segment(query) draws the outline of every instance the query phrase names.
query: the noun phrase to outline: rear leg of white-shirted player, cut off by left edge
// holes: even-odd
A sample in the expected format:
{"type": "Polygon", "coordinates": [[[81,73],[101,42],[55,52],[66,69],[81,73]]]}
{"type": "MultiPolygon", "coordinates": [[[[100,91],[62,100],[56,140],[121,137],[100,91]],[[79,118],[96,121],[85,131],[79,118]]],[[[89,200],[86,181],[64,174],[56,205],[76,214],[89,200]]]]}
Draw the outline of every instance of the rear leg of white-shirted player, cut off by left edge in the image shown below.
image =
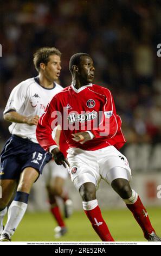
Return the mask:
{"type": "Polygon", "coordinates": [[[16,185],[16,180],[0,180],[0,186],[2,187],[2,198],[0,199],[0,234],[3,231],[3,218],[7,213],[7,205],[12,199],[16,185]]]}

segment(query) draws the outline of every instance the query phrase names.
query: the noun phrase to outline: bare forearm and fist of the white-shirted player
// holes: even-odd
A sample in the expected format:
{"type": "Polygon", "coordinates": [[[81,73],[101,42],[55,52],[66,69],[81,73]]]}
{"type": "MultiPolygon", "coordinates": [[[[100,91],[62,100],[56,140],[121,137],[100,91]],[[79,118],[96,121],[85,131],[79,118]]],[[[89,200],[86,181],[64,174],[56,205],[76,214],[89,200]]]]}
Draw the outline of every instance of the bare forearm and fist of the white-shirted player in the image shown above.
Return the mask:
{"type": "Polygon", "coordinates": [[[38,115],[35,115],[34,117],[25,117],[24,115],[18,114],[16,111],[5,113],[3,117],[4,120],[11,123],[28,124],[30,126],[37,125],[39,119],[38,115]]]}

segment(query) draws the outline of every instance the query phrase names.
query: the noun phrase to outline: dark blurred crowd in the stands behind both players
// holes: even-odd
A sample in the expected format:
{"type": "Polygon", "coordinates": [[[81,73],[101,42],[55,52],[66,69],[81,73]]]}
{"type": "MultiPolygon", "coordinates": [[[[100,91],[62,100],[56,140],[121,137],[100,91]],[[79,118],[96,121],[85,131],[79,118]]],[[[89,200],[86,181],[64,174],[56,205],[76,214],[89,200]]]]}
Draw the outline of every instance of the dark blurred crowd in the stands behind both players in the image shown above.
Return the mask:
{"type": "Polygon", "coordinates": [[[161,142],[161,1],[0,1],[0,136],[9,136],[3,110],[19,82],[37,75],[33,53],[62,52],[60,83],[71,82],[70,56],[94,59],[95,83],[111,89],[128,142],[161,142]]]}

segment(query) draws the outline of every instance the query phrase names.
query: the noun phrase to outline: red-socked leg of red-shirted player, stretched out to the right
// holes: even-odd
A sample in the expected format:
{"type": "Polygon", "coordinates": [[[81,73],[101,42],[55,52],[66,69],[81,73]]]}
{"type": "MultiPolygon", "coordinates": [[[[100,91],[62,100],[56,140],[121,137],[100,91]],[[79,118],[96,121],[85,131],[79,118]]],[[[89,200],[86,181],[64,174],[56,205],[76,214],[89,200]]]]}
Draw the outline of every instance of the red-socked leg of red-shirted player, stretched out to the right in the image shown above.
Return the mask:
{"type": "Polygon", "coordinates": [[[144,237],[147,240],[153,239],[151,241],[161,241],[161,239],[159,239],[159,237],[155,234],[155,230],[151,225],[147,211],[144,208],[144,205],[141,203],[137,192],[131,189],[128,180],[121,178],[115,179],[112,181],[111,186],[124,200],[127,208],[132,212],[134,218],[143,230],[144,237]]]}

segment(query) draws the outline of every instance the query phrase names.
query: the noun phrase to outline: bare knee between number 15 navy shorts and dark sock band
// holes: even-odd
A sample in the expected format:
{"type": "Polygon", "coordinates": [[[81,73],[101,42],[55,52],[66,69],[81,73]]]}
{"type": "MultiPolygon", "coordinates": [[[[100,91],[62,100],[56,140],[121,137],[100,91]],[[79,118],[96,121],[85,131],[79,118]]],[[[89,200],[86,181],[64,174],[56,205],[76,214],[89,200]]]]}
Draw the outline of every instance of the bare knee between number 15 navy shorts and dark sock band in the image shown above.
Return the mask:
{"type": "Polygon", "coordinates": [[[39,176],[38,170],[33,167],[24,168],[21,173],[20,181],[18,182],[17,191],[30,193],[33,183],[38,179],[39,176]]]}

